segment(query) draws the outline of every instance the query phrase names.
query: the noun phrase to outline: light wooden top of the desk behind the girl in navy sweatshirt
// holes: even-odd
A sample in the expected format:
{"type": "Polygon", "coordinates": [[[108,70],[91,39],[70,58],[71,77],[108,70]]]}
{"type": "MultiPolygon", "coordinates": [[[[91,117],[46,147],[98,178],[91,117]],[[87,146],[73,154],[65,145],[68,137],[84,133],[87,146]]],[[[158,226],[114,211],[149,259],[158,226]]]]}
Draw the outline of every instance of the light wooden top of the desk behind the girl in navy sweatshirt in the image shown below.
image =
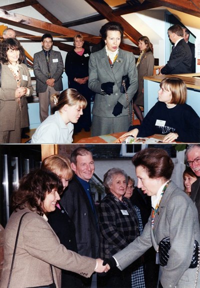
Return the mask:
{"type": "Polygon", "coordinates": [[[200,73],[145,76],[144,79],[154,82],[161,82],[161,80],[166,77],[178,77],[185,82],[188,88],[200,90],[200,73]]]}

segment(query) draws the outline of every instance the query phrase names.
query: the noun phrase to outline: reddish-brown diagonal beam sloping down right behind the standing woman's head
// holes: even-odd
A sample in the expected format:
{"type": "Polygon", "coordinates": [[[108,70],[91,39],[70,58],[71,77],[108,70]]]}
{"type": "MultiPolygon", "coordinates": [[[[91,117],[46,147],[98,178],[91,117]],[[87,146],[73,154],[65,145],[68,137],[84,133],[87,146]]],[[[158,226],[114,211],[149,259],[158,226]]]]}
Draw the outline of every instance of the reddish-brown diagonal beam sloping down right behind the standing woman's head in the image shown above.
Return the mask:
{"type": "MultiPolygon", "coordinates": [[[[135,30],[126,20],[121,16],[115,16],[112,13],[112,8],[103,0],[85,0],[90,6],[92,6],[98,13],[103,15],[109,21],[118,21],[124,28],[124,34],[137,45],[138,38],[142,35],[135,30]]],[[[138,50],[139,53],[139,50],[138,50]]]]}

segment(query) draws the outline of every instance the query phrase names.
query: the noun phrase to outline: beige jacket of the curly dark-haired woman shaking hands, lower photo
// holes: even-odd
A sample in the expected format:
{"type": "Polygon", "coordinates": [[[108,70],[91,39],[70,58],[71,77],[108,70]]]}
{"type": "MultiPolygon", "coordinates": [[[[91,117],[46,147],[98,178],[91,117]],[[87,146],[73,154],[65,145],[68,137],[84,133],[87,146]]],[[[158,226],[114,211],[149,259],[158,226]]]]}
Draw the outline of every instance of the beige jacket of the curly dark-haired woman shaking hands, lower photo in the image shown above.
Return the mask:
{"type": "Polygon", "coordinates": [[[0,288],[7,287],[16,232],[21,215],[27,213],[21,222],[10,288],[44,286],[52,283],[50,265],[56,288],[61,287],[59,268],[90,277],[96,260],[67,250],[48,222],[28,208],[13,212],[4,230],[4,263],[0,288]]]}

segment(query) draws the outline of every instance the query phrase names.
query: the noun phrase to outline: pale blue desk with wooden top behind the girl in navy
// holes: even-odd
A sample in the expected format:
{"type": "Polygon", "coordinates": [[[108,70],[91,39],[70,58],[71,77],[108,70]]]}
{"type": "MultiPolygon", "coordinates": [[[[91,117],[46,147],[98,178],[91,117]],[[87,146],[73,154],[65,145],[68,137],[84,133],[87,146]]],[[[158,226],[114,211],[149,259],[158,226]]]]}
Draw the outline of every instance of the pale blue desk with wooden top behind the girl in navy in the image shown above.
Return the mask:
{"type": "Polygon", "coordinates": [[[200,116],[200,73],[144,77],[144,116],[157,102],[159,83],[166,77],[178,77],[185,82],[187,87],[186,103],[200,116]]]}

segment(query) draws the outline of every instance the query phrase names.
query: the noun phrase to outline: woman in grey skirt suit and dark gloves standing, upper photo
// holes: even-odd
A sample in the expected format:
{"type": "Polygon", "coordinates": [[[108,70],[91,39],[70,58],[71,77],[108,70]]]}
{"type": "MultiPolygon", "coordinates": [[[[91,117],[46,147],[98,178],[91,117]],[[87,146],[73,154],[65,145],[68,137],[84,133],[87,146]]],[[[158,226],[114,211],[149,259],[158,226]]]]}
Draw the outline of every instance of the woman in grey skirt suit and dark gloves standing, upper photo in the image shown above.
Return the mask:
{"type": "Polygon", "coordinates": [[[133,53],[119,48],[123,27],[107,22],[100,29],[105,47],[89,57],[88,86],[94,91],[91,135],[127,131],[131,122],[131,100],[137,90],[137,69],[133,53]],[[129,78],[129,86],[120,90],[122,77],[129,78]]]}

